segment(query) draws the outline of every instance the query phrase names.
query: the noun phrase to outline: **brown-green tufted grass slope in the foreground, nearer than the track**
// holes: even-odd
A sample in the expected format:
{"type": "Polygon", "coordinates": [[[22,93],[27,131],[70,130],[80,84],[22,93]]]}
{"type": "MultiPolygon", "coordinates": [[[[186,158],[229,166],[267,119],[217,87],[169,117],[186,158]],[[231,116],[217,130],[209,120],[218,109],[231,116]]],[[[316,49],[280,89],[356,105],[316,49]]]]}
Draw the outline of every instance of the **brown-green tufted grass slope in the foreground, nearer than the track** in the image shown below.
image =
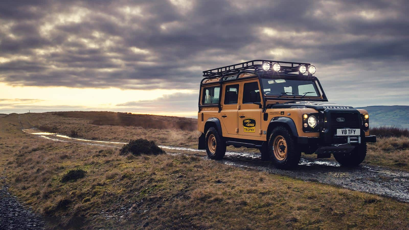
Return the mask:
{"type": "Polygon", "coordinates": [[[120,156],[115,147],[21,132],[38,117],[0,119],[0,170],[10,192],[43,216],[68,216],[55,226],[86,216],[89,229],[409,228],[409,204],[391,198],[197,156],[120,156]],[[83,177],[66,179],[75,169],[83,177]]]}

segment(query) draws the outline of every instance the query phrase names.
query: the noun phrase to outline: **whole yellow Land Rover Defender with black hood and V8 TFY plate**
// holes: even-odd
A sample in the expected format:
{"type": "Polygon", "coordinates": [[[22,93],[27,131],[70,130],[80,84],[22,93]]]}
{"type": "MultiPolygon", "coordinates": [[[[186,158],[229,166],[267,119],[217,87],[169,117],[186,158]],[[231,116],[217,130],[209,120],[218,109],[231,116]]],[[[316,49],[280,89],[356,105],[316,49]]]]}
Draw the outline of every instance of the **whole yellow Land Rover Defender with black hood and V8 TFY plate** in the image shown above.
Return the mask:
{"type": "Polygon", "coordinates": [[[309,63],[253,60],[203,71],[198,149],[219,160],[226,146],[256,148],[279,168],[298,165],[301,152],[359,165],[366,143],[376,142],[368,112],[328,102],[315,70],[309,63]]]}

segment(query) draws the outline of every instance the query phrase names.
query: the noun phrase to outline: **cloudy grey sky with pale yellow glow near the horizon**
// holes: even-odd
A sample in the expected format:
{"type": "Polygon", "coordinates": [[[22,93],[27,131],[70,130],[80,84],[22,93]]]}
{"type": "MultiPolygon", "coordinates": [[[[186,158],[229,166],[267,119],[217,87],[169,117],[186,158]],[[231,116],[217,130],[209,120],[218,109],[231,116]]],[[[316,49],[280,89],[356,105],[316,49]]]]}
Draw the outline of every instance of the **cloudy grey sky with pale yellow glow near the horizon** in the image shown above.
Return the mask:
{"type": "Polygon", "coordinates": [[[0,2],[0,113],[197,116],[202,71],[315,65],[328,99],[409,105],[409,2],[0,2]]]}

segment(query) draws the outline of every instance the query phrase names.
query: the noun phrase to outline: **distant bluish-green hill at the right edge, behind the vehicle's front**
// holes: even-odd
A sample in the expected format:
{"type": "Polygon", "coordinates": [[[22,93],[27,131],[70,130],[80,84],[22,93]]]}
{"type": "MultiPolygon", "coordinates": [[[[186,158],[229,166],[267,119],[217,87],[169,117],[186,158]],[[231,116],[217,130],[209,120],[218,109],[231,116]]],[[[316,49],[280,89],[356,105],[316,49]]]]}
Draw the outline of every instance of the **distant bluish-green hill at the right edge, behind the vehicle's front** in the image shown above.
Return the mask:
{"type": "Polygon", "coordinates": [[[366,106],[370,126],[397,126],[409,128],[409,106],[366,106]]]}

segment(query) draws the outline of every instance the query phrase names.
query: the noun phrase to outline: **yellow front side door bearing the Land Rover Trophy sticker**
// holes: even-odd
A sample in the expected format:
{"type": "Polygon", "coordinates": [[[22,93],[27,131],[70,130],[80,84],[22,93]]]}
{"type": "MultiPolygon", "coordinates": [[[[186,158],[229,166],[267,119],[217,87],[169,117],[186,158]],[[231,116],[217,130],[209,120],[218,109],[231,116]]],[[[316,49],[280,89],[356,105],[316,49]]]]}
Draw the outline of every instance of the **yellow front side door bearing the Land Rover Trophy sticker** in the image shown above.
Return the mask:
{"type": "Polygon", "coordinates": [[[261,136],[261,108],[253,104],[250,95],[255,96],[256,102],[261,102],[260,86],[257,80],[242,82],[238,110],[238,135],[261,136]]]}

